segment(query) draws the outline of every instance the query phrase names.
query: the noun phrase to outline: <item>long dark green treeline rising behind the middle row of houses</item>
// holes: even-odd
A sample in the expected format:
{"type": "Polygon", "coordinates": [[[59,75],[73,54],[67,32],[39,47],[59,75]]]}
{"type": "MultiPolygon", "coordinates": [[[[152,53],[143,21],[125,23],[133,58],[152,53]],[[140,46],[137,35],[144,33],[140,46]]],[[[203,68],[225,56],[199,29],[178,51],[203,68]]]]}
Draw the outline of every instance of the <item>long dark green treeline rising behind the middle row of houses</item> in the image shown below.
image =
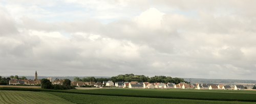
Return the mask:
{"type": "Polygon", "coordinates": [[[111,78],[97,78],[95,79],[95,77],[83,77],[82,79],[80,79],[79,77],[75,77],[74,81],[82,81],[82,82],[103,82],[103,81],[112,81],[114,83],[116,82],[133,82],[133,81],[137,81],[137,82],[149,82],[149,83],[175,83],[178,84],[180,82],[185,82],[188,83],[186,81],[184,81],[184,79],[175,77],[172,78],[170,76],[153,76],[153,77],[148,77],[145,75],[134,75],[134,74],[120,74],[117,76],[112,76],[111,78]]]}

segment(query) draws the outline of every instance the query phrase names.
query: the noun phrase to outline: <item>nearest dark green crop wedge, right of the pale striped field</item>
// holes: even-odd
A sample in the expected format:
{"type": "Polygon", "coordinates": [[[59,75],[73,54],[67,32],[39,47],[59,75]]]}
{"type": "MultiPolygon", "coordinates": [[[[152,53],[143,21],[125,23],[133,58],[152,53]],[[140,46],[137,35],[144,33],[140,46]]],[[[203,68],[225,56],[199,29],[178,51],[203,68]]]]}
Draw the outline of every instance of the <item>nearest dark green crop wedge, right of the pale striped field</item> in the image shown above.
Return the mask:
{"type": "Polygon", "coordinates": [[[148,97],[126,97],[126,96],[107,96],[107,95],[90,95],[74,94],[61,92],[47,92],[62,97],[76,103],[255,103],[244,101],[216,101],[216,100],[193,100],[193,99],[172,99],[172,98],[148,98],[148,97]]]}

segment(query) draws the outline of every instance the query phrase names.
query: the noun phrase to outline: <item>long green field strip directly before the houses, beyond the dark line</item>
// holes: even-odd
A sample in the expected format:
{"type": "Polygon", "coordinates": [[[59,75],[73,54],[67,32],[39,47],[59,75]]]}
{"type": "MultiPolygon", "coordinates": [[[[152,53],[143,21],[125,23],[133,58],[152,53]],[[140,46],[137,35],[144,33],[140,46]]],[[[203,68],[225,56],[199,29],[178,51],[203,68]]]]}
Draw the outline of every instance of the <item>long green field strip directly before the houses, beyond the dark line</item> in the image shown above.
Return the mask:
{"type": "Polygon", "coordinates": [[[67,90],[71,93],[151,97],[151,98],[177,98],[199,100],[223,101],[253,101],[256,102],[256,91],[248,90],[195,90],[195,89],[94,89],[94,90],[67,90]]]}

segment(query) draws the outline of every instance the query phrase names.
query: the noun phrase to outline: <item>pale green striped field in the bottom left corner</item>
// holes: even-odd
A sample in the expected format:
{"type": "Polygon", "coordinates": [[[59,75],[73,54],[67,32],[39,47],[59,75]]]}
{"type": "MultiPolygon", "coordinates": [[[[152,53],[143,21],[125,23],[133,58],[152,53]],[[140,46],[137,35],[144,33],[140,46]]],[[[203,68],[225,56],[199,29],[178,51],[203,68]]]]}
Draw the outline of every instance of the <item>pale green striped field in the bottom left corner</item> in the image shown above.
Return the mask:
{"type": "Polygon", "coordinates": [[[0,90],[0,103],[72,103],[59,96],[32,91],[4,91],[0,90]]]}

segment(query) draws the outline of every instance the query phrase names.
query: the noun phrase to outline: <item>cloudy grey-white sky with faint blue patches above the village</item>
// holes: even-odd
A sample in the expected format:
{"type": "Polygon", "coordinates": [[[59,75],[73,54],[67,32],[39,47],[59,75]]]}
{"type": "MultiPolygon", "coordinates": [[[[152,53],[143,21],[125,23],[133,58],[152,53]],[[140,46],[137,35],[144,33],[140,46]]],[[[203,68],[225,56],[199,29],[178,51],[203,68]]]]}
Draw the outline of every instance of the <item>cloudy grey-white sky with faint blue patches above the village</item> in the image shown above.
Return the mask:
{"type": "Polygon", "coordinates": [[[256,80],[254,4],[2,0],[0,75],[256,80]]]}

